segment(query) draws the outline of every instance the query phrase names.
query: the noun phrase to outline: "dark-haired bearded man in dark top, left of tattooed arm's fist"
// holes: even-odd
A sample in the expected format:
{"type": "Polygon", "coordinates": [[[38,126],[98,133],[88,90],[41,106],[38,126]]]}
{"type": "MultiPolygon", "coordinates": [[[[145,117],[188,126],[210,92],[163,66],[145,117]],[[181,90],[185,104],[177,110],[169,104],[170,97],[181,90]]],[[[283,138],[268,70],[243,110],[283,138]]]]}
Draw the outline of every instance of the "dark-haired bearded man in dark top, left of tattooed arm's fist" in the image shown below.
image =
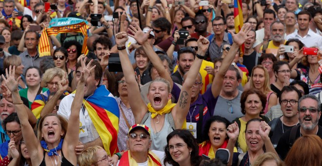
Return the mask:
{"type": "Polygon", "coordinates": [[[178,51],[178,70],[173,73],[172,80],[182,85],[183,76],[189,71],[192,63],[195,61],[196,51],[191,47],[181,47],[178,51]]]}

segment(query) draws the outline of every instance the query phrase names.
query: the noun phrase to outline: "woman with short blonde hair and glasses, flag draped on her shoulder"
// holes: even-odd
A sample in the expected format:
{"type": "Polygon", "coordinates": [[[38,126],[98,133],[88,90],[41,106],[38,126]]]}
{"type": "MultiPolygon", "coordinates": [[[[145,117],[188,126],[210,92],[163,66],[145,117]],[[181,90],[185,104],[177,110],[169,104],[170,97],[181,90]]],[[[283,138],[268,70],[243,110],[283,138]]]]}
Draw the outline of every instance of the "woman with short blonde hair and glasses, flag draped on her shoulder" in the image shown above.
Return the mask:
{"type": "MultiPolygon", "coordinates": [[[[54,67],[46,70],[42,76],[42,82],[49,89],[36,96],[34,103],[31,104],[32,113],[37,119],[40,118],[40,113],[44,105],[48,102],[48,96],[51,92],[56,92],[58,90],[58,83],[60,80],[67,79],[67,74],[60,68],[54,67]]],[[[67,95],[68,92],[66,91],[67,95]]]]}

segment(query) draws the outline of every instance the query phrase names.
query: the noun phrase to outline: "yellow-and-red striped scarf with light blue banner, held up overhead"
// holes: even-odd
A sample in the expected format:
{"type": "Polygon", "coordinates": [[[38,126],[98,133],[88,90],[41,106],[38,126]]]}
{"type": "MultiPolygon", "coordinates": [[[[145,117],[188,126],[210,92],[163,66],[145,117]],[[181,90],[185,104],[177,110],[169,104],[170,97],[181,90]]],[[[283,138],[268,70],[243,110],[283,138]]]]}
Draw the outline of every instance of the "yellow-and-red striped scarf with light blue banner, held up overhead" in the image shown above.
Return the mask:
{"type": "MultiPolygon", "coordinates": [[[[39,40],[39,55],[50,56],[50,45],[48,36],[50,35],[58,35],[59,33],[68,33],[68,32],[79,32],[84,35],[83,47],[81,49],[82,54],[88,53],[88,48],[86,45],[88,34],[89,34],[89,26],[87,25],[87,21],[77,19],[77,18],[59,18],[52,19],[49,23],[48,28],[44,28],[42,30],[40,40],[39,40]]],[[[62,44],[62,43],[61,43],[62,44]]]]}

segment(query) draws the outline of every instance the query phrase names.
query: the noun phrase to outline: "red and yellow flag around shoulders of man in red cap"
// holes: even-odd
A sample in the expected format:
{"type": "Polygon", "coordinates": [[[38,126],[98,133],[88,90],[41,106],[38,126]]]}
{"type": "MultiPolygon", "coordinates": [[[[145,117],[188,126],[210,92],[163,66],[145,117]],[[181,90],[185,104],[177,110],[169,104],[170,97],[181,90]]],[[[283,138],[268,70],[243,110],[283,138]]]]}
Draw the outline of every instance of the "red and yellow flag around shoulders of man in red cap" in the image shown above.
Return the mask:
{"type": "MultiPolygon", "coordinates": [[[[138,163],[131,157],[130,150],[124,152],[119,166],[138,166],[138,163]]],[[[159,157],[152,151],[148,151],[148,166],[161,166],[159,157]]]]}

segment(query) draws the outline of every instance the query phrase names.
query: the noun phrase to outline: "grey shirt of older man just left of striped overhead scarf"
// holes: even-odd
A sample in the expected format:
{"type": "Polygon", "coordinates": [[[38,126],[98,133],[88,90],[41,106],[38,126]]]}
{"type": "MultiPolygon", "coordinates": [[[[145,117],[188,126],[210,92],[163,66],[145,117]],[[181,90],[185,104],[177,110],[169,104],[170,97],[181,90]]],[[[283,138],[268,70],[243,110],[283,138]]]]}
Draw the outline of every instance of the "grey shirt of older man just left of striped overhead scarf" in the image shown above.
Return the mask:
{"type": "Polygon", "coordinates": [[[23,74],[26,72],[27,68],[30,66],[37,66],[40,68],[40,61],[42,60],[42,58],[39,57],[39,52],[37,49],[37,55],[34,57],[31,57],[28,54],[28,50],[24,51],[23,53],[21,53],[19,55],[19,57],[21,58],[21,63],[24,66],[23,68],[23,74]]]}

